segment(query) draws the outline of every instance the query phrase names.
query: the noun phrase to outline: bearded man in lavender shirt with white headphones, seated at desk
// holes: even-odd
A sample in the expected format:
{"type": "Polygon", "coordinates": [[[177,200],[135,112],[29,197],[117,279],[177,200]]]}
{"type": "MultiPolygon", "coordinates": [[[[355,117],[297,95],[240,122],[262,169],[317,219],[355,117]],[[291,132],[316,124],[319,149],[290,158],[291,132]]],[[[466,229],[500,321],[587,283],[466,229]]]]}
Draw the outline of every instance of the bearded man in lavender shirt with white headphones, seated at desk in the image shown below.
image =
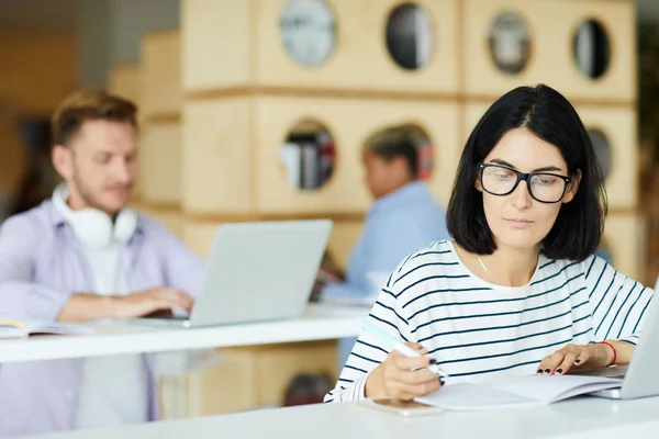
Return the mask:
{"type": "MultiPolygon", "coordinates": [[[[127,207],[136,113],[90,90],[57,109],[52,160],[65,183],[0,227],[0,317],[83,322],[191,308],[204,262],[127,207]]],[[[1,364],[0,436],[157,419],[153,370],[145,354],[1,364]]]]}

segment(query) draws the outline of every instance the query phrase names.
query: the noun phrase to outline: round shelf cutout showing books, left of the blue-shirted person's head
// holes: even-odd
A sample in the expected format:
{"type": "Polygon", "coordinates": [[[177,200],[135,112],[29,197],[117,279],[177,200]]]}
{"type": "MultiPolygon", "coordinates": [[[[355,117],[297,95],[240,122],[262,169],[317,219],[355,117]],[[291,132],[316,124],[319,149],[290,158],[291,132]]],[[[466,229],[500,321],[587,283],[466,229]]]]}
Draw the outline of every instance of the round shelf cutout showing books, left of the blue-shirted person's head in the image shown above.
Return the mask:
{"type": "Polygon", "coordinates": [[[289,185],[316,191],[334,172],[336,148],[332,135],[320,122],[300,122],[289,132],[279,160],[289,185]]]}

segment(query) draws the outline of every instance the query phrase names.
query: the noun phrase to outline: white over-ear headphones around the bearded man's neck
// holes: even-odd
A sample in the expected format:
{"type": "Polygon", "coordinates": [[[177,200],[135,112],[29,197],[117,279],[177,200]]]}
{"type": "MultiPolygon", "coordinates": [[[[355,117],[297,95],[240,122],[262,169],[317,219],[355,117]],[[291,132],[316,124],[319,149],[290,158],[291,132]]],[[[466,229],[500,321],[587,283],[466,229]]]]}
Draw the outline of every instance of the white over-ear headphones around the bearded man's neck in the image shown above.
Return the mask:
{"type": "Polygon", "coordinates": [[[67,204],[68,195],[66,184],[59,184],[53,192],[53,205],[83,246],[99,249],[112,241],[127,243],[133,237],[137,228],[137,213],[132,209],[124,207],[112,224],[110,216],[97,209],[72,211],[67,204]]]}

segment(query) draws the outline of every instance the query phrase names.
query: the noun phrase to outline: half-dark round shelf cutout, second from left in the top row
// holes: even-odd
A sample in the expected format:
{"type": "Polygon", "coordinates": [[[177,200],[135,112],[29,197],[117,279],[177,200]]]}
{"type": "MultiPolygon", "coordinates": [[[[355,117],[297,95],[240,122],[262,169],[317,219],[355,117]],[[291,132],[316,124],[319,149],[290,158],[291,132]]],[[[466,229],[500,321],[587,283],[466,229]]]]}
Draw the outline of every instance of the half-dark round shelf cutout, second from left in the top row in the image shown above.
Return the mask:
{"type": "Polygon", "coordinates": [[[405,70],[425,66],[433,52],[434,33],[428,13],[415,3],[394,8],[387,19],[387,48],[405,70]]]}

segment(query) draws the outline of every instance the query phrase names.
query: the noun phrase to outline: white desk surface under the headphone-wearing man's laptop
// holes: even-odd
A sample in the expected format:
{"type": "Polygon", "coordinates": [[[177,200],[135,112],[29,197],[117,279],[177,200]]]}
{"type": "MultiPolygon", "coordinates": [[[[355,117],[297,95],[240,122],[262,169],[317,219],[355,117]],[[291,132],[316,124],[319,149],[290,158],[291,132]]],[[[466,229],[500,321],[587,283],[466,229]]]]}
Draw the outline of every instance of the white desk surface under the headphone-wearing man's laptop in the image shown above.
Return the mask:
{"type": "Polygon", "coordinates": [[[122,353],[227,348],[326,340],[359,334],[367,308],[311,305],[303,317],[199,329],[154,328],[121,323],[93,325],[90,336],[36,336],[0,340],[0,363],[122,353]]]}

